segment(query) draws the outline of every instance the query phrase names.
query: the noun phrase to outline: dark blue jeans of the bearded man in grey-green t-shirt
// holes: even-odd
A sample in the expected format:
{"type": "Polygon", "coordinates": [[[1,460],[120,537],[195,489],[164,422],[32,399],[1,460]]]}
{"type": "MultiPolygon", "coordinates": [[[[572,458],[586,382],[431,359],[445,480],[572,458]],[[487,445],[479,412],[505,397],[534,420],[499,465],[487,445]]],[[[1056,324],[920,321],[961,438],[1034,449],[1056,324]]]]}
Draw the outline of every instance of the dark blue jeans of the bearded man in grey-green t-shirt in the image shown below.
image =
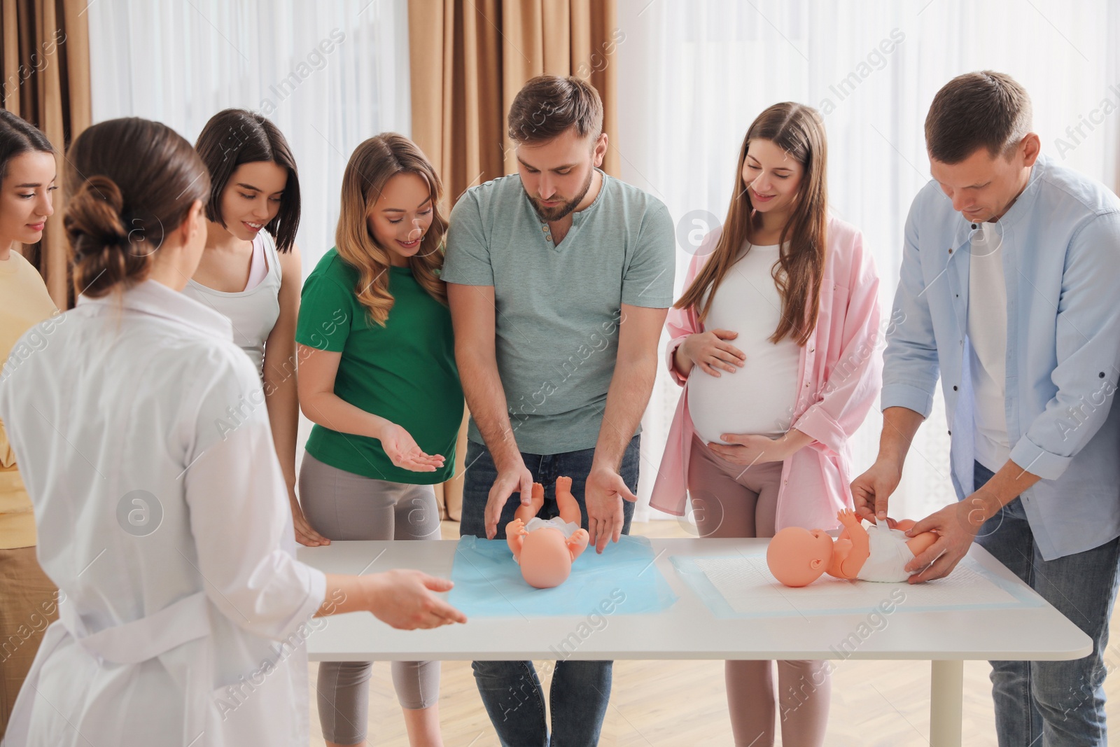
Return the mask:
{"type": "MultiPolygon", "coordinates": [[[[626,447],[618,469],[631,492],[637,491],[638,436],[626,447]]],[[[579,502],[582,525],[587,529],[587,506],[584,484],[591,471],[595,449],[564,454],[524,454],[521,458],[533,474],[533,480],[544,485],[542,519],[559,515],[556,502],[557,477],[571,477],[571,493],[579,502]]],[[[459,534],[486,539],[485,511],[489,489],[497,478],[494,460],[485,446],[467,443],[467,474],[463,486],[463,521],[459,534]]],[[[516,496],[516,494],[514,494],[516,496]]],[[[520,496],[512,497],[502,508],[497,539],[505,539],[505,525],[513,521],[520,496]]],[[[634,504],[623,502],[623,534],[629,534],[634,504]]],[[[591,552],[595,552],[591,549],[591,552]]],[[[544,719],[544,691],[532,662],[473,662],[475,682],[486,712],[494,723],[503,747],[595,747],[599,741],[603,717],[610,699],[613,662],[559,661],[552,673],[549,704],[552,708],[552,740],[544,719]]]]}

